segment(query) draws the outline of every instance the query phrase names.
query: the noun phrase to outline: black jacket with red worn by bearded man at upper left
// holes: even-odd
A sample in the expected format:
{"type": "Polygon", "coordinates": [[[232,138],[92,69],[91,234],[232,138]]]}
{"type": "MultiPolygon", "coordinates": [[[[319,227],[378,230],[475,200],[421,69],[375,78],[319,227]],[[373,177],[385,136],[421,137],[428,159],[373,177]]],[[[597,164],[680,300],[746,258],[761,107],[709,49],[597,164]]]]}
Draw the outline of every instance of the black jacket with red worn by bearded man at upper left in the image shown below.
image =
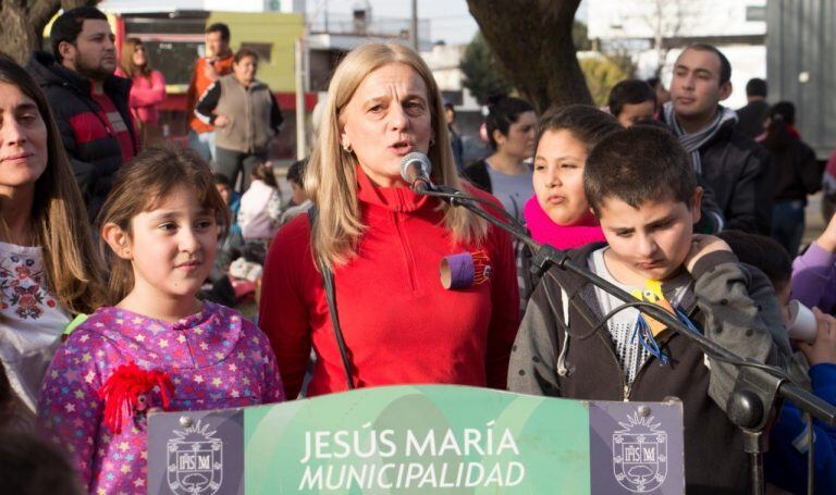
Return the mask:
{"type": "MultiPolygon", "coordinates": [[[[119,139],[110,134],[100,113],[101,107],[90,96],[88,78],[64,67],[42,51],[32,53],[26,70],[47,97],[93,221],[110,191],[113,174],[123,162],[119,139]]],[[[136,154],[138,141],[127,106],[131,81],[110,76],[104,81],[103,89],[127,126],[134,145],[133,154],[136,154]]]]}

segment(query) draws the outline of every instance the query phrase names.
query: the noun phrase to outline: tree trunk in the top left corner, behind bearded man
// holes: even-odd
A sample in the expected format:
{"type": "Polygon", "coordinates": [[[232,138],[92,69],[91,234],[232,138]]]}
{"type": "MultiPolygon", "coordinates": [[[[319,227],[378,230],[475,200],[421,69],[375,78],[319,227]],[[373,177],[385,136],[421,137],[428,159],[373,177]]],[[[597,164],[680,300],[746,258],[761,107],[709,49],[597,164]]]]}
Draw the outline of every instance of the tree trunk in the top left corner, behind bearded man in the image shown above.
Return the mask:
{"type": "Polygon", "coordinates": [[[59,9],[96,3],[98,0],[0,0],[0,51],[23,64],[40,48],[44,27],[59,9]]]}

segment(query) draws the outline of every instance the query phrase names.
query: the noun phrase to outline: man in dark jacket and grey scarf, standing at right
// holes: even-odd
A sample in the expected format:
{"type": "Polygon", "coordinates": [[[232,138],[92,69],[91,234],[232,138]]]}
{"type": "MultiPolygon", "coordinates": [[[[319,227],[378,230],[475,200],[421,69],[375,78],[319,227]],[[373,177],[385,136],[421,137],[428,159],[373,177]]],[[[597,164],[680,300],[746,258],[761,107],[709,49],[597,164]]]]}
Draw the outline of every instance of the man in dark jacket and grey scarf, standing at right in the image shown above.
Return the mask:
{"type": "Polygon", "coordinates": [[[732,65],[711,45],[691,45],[676,61],[672,101],[662,119],[690,154],[702,182],[712,188],[726,228],[770,235],[770,154],[736,128],[737,114],[720,104],[732,95],[732,65]]]}

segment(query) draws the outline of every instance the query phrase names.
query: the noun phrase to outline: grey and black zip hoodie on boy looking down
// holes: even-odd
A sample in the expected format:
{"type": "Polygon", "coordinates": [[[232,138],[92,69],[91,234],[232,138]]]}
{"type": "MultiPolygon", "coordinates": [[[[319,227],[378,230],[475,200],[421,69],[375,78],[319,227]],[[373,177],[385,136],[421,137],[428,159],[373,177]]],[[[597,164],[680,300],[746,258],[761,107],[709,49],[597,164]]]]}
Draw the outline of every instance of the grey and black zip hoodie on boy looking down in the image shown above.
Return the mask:
{"type": "MultiPolygon", "coordinates": [[[[586,268],[592,251],[603,246],[588,245],[569,251],[569,256],[586,268]]],[[[697,304],[687,312],[703,334],[741,357],[775,362],[771,332],[783,331],[783,326],[767,326],[780,320],[765,275],[737,262],[730,252],[714,252],[697,263],[693,279],[697,304]]],[[[591,284],[557,267],[549,270],[531,296],[512,348],[508,389],[588,400],[664,401],[678,397],[684,410],[687,493],[745,493],[749,459],[742,449],[742,433],[717,405],[725,405],[730,394],[734,370],[717,361],[711,361],[709,369],[704,355],[690,339],[667,330],[656,339],[672,364],[660,366],[651,356],[627,386],[610,333],[602,330],[590,335],[601,318],[591,284]],[[564,296],[570,301],[568,338],[564,296]],[[562,369],[567,372],[561,374],[562,369]]]]}

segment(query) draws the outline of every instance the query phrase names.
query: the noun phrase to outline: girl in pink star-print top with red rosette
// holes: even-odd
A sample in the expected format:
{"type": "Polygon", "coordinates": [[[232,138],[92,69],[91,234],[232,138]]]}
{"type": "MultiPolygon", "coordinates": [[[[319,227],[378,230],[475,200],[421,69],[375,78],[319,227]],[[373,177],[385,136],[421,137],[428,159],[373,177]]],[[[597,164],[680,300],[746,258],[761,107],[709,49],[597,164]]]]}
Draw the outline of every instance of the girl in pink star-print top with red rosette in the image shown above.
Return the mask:
{"type": "MultiPolygon", "coordinates": [[[[147,493],[147,412],[284,399],[267,337],[195,296],[229,215],[194,151],[150,148],[116,174],[99,216],[110,305],[59,349],[40,393],[45,436],[90,493],[147,493]],[[127,395],[127,384],[143,385],[127,395]]],[[[132,388],[133,389],[133,388],[132,388]]]]}

